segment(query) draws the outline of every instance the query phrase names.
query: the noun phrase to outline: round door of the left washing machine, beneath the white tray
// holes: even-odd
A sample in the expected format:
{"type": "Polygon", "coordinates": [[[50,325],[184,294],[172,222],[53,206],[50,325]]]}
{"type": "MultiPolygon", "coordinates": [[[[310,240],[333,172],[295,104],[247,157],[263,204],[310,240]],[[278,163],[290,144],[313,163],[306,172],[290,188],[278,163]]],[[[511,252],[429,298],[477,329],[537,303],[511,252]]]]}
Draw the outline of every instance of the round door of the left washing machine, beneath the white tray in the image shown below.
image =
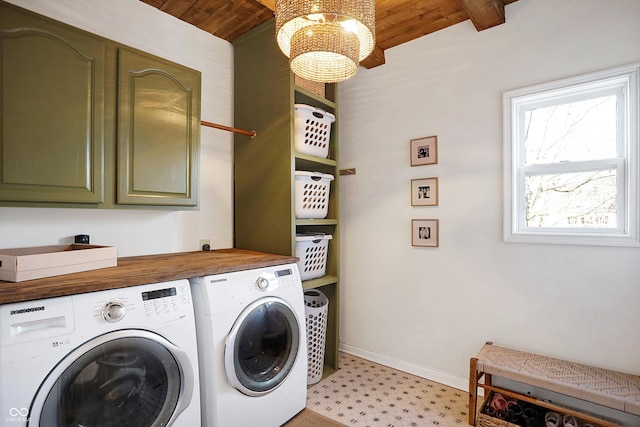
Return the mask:
{"type": "Polygon", "coordinates": [[[169,426],[191,401],[187,354],[141,330],[110,332],[65,357],[40,386],[29,426],[169,426]]]}

